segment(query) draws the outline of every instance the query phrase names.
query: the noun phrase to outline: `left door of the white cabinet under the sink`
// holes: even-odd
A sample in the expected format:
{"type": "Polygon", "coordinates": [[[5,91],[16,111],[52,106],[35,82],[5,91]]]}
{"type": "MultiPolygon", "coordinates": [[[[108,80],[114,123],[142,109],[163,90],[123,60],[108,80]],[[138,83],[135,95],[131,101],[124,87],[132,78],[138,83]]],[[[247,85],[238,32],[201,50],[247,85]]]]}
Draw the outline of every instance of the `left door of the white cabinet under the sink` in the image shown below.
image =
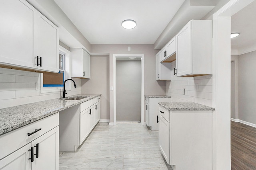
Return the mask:
{"type": "Polygon", "coordinates": [[[80,113],[80,145],[90,133],[88,130],[89,113],[90,109],[85,109],[80,113]]]}

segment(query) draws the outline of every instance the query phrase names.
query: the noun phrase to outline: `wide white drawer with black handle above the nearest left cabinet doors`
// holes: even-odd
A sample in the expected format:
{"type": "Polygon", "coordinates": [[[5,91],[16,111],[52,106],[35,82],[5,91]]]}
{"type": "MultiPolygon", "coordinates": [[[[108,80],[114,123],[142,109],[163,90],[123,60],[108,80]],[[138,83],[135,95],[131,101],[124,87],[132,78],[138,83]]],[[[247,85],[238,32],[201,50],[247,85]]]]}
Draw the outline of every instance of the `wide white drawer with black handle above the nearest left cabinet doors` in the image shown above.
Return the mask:
{"type": "Polygon", "coordinates": [[[44,119],[38,120],[36,122],[30,123],[6,133],[0,136],[0,146],[1,148],[0,159],[4,158],[8,154],[14,152],[15,150],[23,147],[24,145],[30,143],[34,139],[42,136],[44,133],[50,131],[54,127],[59,125],[59,113],[45,117],[44,119]],[[28,136],[28,133],[32,133],[35,129],[40,129],[36,133],[28,136]]]}

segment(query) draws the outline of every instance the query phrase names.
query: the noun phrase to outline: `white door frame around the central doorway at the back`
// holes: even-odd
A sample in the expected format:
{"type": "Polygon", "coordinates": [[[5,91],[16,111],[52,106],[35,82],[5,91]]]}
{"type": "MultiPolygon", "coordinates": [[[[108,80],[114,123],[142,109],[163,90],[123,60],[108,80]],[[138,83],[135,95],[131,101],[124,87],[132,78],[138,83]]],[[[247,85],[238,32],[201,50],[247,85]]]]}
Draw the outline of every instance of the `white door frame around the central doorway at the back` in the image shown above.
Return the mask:
{"type": "Polygon", "coordinates": [[[114,122],[116,125],[116,58],[141,58],[141,115],[140,121],[144,125],[144,54],[113,54],[113,91],[114,91],[114,122]]]}

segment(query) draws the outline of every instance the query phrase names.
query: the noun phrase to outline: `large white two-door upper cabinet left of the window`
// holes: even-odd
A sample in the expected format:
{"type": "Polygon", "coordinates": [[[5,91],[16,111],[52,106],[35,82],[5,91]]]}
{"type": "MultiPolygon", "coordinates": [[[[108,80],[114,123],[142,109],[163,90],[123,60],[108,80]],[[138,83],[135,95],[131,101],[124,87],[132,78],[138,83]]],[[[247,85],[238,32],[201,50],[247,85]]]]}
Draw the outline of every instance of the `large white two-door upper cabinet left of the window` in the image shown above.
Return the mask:
{"type": "Polygon", "coordinates": [[[1,2],[0,21],[0,65],[58,72],[58,27],[25,0],[1,2]]]}

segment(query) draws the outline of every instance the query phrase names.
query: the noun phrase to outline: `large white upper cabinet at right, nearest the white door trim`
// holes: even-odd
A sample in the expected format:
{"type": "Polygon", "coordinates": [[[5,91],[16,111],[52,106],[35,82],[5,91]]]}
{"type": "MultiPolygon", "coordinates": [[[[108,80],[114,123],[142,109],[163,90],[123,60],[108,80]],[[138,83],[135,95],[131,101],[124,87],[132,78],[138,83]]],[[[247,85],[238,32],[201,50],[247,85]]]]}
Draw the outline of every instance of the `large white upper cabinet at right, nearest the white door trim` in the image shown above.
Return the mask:
{"type": "Polygon", "coordinates": [[[212,74],[212,21],[191,20],[176,35],[177,76],[212,74]]]}

